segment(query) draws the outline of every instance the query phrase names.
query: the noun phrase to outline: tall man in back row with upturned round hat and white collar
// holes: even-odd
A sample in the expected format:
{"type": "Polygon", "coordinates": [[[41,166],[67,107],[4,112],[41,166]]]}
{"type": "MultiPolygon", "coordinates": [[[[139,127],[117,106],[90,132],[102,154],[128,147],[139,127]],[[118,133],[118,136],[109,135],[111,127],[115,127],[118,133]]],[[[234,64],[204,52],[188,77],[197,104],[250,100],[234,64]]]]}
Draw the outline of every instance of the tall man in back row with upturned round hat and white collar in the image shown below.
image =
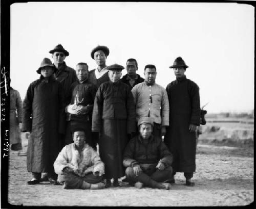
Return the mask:
{"type": "Polygon", "coordinates": [[[97,68],[89,72],[89,82],[96,85],[97,88],[100,84],[109,81],[108,68],[106,66],[106,58],[110,54],[110,49],[106,46],[96,46],[91,51],[91,57],[95,60],[97,68]]]}

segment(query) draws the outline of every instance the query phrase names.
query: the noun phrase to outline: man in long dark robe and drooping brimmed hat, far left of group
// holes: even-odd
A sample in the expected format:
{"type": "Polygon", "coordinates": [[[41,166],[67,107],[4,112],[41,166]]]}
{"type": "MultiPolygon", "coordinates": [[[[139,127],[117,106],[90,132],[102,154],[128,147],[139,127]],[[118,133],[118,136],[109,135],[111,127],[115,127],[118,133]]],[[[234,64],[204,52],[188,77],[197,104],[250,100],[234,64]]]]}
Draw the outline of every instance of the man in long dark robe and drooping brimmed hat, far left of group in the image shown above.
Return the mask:
{"type": "MultiPolygon", "coordinates": [[[[29,185],[39,184],[42,172],[48,173],[51,184],[57,175],[53,163],[60,150],[60,116],[63,110],[63,92],[53,76],[56,67],[44,58],[36,71],[40,78],[29,85],[24,99],[23,132],[29,132],[27,169],[33,178],[29,185]]],[[[63,133],[61,133],[63,134],[63,133]]]]}

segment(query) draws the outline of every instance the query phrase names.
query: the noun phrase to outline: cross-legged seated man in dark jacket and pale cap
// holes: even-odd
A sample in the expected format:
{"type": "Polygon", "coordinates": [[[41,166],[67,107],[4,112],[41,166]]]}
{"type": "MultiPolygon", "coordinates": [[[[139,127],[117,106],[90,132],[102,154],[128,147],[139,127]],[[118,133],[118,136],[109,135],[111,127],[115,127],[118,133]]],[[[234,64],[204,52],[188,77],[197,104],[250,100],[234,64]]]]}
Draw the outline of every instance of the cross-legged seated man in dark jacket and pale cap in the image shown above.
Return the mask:
{"type": "Polygon", "coordinates": [[[140,135],[125,147],[123,165],[127,180],[135,182],[136,188],[143,185],[151,188],[170,189],[163,181],[172,177],[172,153],[161,139],[152,135],[153,118],[141,117],[138,121],[140,135]]]}

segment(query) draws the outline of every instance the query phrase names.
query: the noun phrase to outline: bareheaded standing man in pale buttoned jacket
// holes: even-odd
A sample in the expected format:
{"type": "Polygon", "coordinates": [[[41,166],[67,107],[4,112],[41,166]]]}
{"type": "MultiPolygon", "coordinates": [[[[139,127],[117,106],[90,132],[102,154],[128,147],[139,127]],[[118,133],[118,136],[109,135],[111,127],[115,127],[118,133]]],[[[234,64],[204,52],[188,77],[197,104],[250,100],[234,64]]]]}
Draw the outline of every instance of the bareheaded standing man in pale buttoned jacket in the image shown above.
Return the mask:
{"type": "Polygon", "coordinates": [[[166,133],[169,125],[169,101],[163,87],[155,83],[157,69],[155,65],[146,65],[144,68],[145,81],[132,89],[137,120],[140,117],[154,119],[153,135],[160,138],[166,133]]]}

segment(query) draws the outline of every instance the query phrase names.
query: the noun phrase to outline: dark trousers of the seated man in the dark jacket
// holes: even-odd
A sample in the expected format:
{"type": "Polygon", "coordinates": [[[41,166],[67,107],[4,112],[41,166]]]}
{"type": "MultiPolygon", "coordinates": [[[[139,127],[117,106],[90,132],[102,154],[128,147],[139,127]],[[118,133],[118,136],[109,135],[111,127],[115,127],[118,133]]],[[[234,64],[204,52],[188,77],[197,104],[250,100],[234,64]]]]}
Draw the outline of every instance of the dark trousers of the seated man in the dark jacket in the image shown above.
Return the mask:
{"type": "Polygon", "coordinates": [[[140,165],[140,167],[142,173],[138,176],[134,174],[132,167],[127,167],[125,170],[126,178],[132,182],[140,181],[147,187],[157,188],[158,182],[168,180],[172,176],[173,169],[170,166],[162,171],[156,169],[156,164],[149,167],[140,165]]]}

